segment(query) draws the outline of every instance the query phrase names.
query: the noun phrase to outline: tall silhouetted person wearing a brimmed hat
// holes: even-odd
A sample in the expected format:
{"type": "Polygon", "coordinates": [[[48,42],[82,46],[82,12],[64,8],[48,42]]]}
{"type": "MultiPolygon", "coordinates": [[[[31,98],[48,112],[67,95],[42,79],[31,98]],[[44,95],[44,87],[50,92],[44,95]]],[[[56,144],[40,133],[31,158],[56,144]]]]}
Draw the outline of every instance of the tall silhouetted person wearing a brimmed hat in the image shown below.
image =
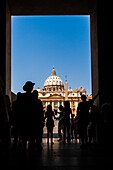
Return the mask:
{"type": "Polygon", "coordinates": [[[32,148],[32,113],[33,113],[33,86],[35,83],[27,81],[23,86],[25,93],[22,95],[22,141],[26,149],[26,142],[29,141],[29,146],[32,148]]]}

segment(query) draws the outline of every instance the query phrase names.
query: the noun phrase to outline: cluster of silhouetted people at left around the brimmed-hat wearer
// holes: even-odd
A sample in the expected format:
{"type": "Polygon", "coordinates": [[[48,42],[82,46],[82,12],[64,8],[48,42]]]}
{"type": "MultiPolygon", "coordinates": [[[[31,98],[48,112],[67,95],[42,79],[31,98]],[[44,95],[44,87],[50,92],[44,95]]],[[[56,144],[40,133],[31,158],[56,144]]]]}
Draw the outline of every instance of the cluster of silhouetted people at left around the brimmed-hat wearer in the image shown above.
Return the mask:
{"type": "Polygon", "coordinates": [[[25,93],[18,93],[17,100],[12,104],[14,144],[22,142],[26,149],[42,149],[42,135],[44,126],[44,112],[38,91],[33,91],[34,83],[27,81],[23,86],[25,93]],[[32,92],[33,91],[33,92],[32,92]],[[19,140],[19,141],[18,141],[19,140]]]}

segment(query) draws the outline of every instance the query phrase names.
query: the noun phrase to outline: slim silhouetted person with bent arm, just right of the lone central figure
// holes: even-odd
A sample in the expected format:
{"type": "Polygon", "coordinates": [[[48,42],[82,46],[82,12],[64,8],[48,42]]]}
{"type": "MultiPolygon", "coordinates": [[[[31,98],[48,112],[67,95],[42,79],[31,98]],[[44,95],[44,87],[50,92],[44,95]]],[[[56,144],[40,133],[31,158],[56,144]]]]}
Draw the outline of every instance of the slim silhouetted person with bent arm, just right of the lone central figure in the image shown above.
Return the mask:
{"type": "Polygon", "coordinates": [[[64,115],[63,115],[63,106],[60,105],[59,106],[59,122],[58,122],[58,135],[59,135],[59,140],[58,141],[61,141],[62,140],[62,130],[63,130],[63,127],[64,127],[64,115]]]}

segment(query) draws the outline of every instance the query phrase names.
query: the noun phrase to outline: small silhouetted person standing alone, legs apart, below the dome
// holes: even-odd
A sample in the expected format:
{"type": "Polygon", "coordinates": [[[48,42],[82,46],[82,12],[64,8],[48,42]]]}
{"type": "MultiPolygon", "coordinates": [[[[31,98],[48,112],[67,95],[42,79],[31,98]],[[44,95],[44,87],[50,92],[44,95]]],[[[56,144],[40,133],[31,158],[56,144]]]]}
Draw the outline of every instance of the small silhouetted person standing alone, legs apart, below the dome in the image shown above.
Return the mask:
{"type": "Polygon", "coordinates": [[[51,134],[51,144],[53,143],[53,127],[54,127],[54,112],[52,111],[52,106],[47,106],[47,111],[45,113],[45,119],[47,118],[47,143],[49,144],[49,133],[51,134]]]}

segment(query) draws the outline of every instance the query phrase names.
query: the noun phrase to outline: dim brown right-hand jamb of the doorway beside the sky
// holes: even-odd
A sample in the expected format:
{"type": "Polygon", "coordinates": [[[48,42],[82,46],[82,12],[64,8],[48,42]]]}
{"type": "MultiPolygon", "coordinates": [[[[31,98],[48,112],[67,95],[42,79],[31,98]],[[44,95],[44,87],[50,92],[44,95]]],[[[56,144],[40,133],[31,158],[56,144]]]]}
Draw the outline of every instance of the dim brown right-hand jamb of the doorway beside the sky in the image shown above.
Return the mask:
{"type": "MultiPolygon", "coordinates": [[[[96,4],[96,3],[95,3],[96,4]]],[[[91,14],[91,78],[92,78],[92,95],[93,97],[99,90],[99,68],[98,68],[98,29],[97,29],[97,9],[95,7],[91,14]]],[[[99,101],[95,100],[95,105],[99,101]]]]}

